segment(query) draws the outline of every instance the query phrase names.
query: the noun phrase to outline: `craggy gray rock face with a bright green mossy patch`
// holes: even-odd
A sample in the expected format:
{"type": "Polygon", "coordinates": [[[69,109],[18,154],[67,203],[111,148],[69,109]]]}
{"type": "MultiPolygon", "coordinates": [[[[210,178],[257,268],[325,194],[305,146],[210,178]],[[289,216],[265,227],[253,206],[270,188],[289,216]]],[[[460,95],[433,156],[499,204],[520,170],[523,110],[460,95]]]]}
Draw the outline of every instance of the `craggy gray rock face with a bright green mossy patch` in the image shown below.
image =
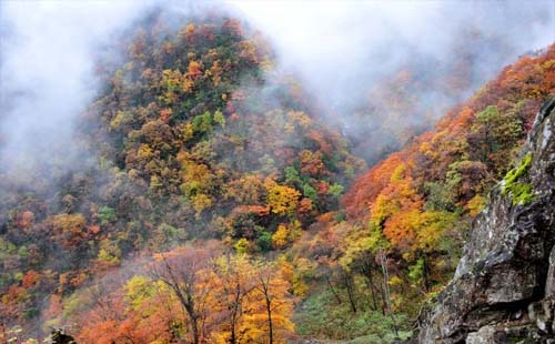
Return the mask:
{"type": "Polygon", "coordinates": [[[422,311],[415,342],[555,343],[553,132],[555,99],[542,107],[521,154],[521,166],[532,161],[492,191],[453,281],[422,311]],[[533,199],[518,202],[514,183],[531,186],[533,199]]]}

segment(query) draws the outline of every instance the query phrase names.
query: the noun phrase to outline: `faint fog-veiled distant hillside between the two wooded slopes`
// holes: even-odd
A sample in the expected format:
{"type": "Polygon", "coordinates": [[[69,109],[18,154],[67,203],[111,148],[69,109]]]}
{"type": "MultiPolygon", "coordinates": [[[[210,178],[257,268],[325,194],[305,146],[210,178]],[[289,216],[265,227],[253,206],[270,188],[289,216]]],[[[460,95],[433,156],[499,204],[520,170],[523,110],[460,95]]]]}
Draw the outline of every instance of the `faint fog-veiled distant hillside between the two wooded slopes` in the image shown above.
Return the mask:
{"type": "Polygon", "coordinates": [[[448,58],[434,60],[411,51],[410,59],[369,90],[364,102],[352,111],[351,122],[356,125],[346,129],[355,154],[370,164],[384,160],[432,130],[453,105],[494,78],[496,72],[484,75],[482,63],[492,63],[501,71],[505,63],[513,62],[503,61],[511,53],[511,43],[503,34],[468,23],[454,36],[445,48],[448,58]]]}

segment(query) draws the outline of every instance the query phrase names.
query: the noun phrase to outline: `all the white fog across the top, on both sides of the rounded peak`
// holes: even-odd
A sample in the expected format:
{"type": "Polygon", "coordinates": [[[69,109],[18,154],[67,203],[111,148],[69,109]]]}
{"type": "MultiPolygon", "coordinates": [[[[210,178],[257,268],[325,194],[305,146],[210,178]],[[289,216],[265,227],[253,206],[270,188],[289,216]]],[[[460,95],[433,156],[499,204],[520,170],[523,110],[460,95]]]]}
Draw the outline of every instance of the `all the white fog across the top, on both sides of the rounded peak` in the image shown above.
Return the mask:
{"type": "MultiPolygon", "coordinates": [[[[69,169],[89,159],[75,149],[72,131],[99,89],[95,53],[153,6],[191,10],[181,1],[1,2],[0,173],[21,179],[48,165],[69,169]]],[[[242,13],[275,48],[276,67],[316,97],[324,118],[354,144],[381,141],[376,151],[393,142],[386,128],[398,135],[398,127],[432,125],[503,65],[555,40],[554,1],[268,0],[211,7],[242,13]],[[478,39],[467,40],[465,30],[478,39]],[[457,59],[457,47],[473,59],[470,82],[453,94],[436,81],[457,59]],[[384,127],[387,104],[370,94],[403,69],[433,77],[415,94],[410,119],[400,123],[392,117],[384,127]]],[[[359,153],[375,159],[367,144],[359,153]]]]}

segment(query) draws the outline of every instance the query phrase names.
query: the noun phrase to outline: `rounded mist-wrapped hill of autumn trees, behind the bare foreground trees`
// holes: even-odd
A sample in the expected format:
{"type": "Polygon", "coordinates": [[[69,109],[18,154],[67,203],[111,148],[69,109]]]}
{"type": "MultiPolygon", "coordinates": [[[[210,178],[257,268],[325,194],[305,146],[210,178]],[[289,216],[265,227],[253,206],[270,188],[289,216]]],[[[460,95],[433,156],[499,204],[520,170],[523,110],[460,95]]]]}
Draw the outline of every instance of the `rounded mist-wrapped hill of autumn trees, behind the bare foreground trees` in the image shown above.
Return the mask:
{"type": "MultiPolygon", "coordinates": [[[[118,336],[129,328],[113,322],[133,317],[129,308],[98,317],[94,301],[74,291],[119,275],[119,266],[139,264],[139,256],[171,249],[191,254],[189,245],[202,256],[206,239],[221,244],[202,251],[205,269],[215,252],[281,251],[315,216],[336,209],[344,185],[364,166],[339,133],[317,122],[294,81],[271,72],[271,51],[260,36],[244,32],[234,19],[214,16],[173,28],[167,16],[154,13],[127,33],[123,61],[99,62],[105,85],[79,124],[79,141],[98,164],[50,179],[37,171],[31,185],[2,182],[0,317],[3,328],[23,325],[18,336],[68,324],[80,343],[93,343],[97,330],[107,326],[118,336]],[[88,321],[75,323],[80,316],[88,321]]],[[[279,262],[236,264],[261,279],[264,271],[281,276],[279,262]]],[[[157,280],[151,267],[137,267],[134,277],[122,272],[118,285],[143,279],[147,287],[144,279],[157,280]]],[[[291,283],[283,279],[280,289],[291,283]]],[[[121,295],[118,285],[103,297],[121,295]]],[[[291,299],[289,289],[283,293],[291,299]]],[[[129,335],[175,337],[172,326],[129,335]]],[[[208,328],[195,331],[195,341],[210,336],[208,328]]]]}

